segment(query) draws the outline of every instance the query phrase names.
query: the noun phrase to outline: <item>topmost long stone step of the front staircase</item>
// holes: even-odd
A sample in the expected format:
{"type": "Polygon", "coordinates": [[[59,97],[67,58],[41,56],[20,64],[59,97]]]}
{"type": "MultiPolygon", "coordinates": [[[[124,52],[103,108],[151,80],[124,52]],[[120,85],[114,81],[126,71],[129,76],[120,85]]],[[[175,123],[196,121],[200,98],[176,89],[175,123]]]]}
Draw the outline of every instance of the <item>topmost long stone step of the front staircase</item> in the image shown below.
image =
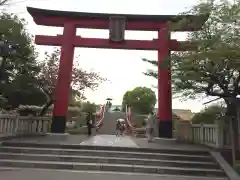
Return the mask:
{"type": "Polygon", "coordinates": [[[114,147],[114,146],[91,146],[80,144],[44,144],[21,141],[4,141],[3,146],[11,147],[38,147],[51,149],[88,149],[88,150],[111,150],[111,151],[128,151],[128,152],[149,152],[149,153],[171,153],[171,154],[186,154],[186,155],[210,155],[206,150],[191,150],[191,149],[151,149],[151,148],[133,148],[133,147],[114,147]]]}

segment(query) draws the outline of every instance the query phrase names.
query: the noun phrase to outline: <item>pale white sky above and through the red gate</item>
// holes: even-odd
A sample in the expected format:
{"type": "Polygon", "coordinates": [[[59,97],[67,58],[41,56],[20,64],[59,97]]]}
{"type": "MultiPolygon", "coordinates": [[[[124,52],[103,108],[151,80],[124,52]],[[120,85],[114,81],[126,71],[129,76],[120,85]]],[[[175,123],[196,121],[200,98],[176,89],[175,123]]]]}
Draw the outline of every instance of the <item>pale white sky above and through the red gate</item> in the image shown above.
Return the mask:
{"type": "MultiPolygon", "coordinates": [[[[8,7],[8,11],[16,13],[28,22],[27,29],[32,35],[57,35],[62,34],[62,28],[37,26],[31,16],[27,13],[26,7],[36,7],[52,10],[96,12],[96,13],[119,13],[119,14],[178,14],[191,6],[197,0],[12,0],[13,4],[8,7]],[[16,1],[16,3],[14,3],[16,1]]],[[[77,35],[92,38],[108,38],[107,30],[78,29],[77,35]]],[[[175,33],[172,39],[184,40],[185,33],[175,33]]],[[[127,31],[126,39],[151,40],[157,38],[157,32],[127,31]]],[[[43,59],[45,51],[51,52],[54,47],[37,46],[40,53],[39,60],[43,59]]],[[[112,49],[76,48],[75,57],[79,56],[81,68],[99,72],[102,77],[108,79],[101,84],[96,91],[87,90],[86,97],[89,101],[103,104],[106,98],[113,99],[113,104],[119,105],[122,102],[124,93],[137,86],[152,88],[157,95],[157,80],[143,75],[153,66],[142,62],[142,58],[157,59],[157,52],[154,51],[130,51],[112,49]]],[[[181,101],[173,99],[173,109],[191,109],[198,112],[208,99],[181,101]]]]}

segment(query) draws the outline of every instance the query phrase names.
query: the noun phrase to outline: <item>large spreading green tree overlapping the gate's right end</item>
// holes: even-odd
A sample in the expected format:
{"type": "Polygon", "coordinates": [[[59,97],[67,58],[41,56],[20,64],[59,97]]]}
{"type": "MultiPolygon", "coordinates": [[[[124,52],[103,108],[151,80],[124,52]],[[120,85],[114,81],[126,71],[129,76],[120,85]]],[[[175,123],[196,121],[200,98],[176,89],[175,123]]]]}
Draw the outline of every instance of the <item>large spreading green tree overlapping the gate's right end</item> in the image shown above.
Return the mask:
{"type": "MultiPolygon", "coordinates": [[[[223,98],[233,124],[235,147],[239,147],[236,100],[240,94],[240,0],[209,0],[190,11],[208,12],[211,14],[203,29],[187,37],[188,41],[198,42],[197,51],[172,55],[173,90],[187,98],[203,94],[223,98]]],[[[145,74],[157,75],[154,70],[145,74]]]]}

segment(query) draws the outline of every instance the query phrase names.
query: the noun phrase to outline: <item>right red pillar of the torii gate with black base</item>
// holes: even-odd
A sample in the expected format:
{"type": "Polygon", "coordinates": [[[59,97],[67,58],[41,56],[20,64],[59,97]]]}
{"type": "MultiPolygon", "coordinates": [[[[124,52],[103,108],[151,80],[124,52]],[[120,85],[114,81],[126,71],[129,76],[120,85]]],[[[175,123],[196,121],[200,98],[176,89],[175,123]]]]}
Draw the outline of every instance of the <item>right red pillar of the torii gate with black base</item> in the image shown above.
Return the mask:
{"type": "Polygon", "coordinates": [[[172,138],[172,83],[171,66],[163,67],[164,61],[169,61],[171,55],[170,35],[165,25],[158,31],[158,136],[172,138]]]}

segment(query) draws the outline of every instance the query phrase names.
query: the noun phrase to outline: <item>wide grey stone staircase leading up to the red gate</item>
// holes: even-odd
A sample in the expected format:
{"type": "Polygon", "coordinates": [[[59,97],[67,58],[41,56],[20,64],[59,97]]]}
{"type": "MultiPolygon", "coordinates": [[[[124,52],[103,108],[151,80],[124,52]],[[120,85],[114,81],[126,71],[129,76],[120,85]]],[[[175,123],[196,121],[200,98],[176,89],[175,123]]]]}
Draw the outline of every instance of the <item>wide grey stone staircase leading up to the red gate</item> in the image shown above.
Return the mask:
{"type": "Polygon", "coordinates": [[[186,175],[228,179],[207,151],[6,141],[0,167],[186,175]]]}

